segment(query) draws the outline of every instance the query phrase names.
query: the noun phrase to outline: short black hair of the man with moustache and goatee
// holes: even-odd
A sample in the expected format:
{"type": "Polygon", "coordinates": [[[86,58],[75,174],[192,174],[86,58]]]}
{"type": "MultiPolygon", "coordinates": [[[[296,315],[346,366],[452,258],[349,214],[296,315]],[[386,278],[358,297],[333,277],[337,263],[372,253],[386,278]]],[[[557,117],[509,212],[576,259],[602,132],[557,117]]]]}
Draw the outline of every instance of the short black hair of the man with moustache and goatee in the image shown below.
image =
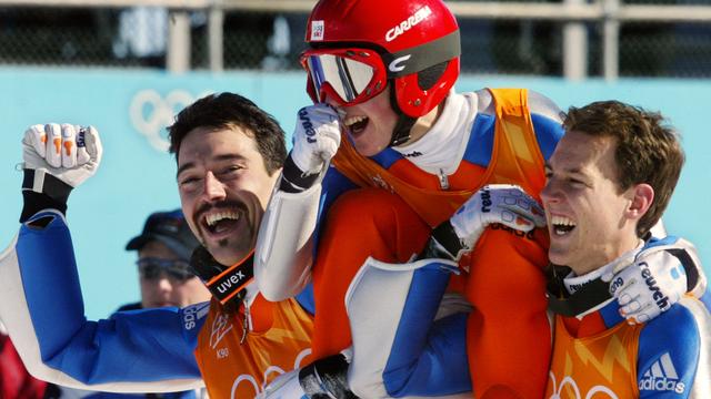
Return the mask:
{"type": "Polygon", "coordinates": [[[170,140],[168,151],[176,154],[176,161],[178,161],[180,144],[193,129],[234,126],[252,135],[270,175],[283,165],[287,158],[287,145],[284,132],[279,122],[249,99],[227,92],[206,95],[180,111],[176,122],[168,127],[170,140]]]}

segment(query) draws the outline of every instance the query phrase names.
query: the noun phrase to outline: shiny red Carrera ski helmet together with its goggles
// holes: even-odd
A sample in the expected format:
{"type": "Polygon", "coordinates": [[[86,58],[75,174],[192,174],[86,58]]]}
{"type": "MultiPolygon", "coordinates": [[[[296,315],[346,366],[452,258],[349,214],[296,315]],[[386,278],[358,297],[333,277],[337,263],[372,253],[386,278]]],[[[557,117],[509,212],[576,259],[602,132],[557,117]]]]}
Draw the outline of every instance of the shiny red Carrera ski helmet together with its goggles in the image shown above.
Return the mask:
{"type": "Polygon", "coordinates": [[[314,102],[356,104],[392,83],[397,109],[419,117],[459,76],[459,27],[441,0],[320,0],[301,55],[314,102]]]}

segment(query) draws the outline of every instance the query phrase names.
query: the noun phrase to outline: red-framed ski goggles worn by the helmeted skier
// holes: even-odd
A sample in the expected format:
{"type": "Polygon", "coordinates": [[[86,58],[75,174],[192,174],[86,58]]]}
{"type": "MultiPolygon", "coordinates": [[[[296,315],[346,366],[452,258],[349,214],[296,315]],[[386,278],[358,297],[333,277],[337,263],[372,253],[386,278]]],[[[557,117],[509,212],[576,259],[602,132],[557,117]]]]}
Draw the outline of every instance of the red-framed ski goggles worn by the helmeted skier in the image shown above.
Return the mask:
{"type": "Polygon", "coordinates": [[[301,54],[308,72],[307,92],[314,103],[326,95],[339,105],[352,105],[385,89],[387,74],[380,54],[370,49],[319,49],[301,54]]]}

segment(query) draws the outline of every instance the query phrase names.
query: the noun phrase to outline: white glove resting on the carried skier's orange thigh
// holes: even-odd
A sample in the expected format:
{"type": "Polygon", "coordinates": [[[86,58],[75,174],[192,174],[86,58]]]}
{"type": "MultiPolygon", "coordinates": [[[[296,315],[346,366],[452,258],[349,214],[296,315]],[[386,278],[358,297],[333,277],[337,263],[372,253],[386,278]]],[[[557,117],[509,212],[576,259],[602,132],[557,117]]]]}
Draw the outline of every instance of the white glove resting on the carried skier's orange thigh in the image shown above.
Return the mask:
{"type": "Polygon", "coordinates": [[[543,208],[521,187],[511,184],[483,186],[449,221],[464,250],[471,249],[492,223],[521,232],[545,226],[543,208]]]}

